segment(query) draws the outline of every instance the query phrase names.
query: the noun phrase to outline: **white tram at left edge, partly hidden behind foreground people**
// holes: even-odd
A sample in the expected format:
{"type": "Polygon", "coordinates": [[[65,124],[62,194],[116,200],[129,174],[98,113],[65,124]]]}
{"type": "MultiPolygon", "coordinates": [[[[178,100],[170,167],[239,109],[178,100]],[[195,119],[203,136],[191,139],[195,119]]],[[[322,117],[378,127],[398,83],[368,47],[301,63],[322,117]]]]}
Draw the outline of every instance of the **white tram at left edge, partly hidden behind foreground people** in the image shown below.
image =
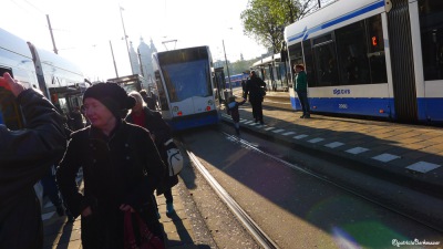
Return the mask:
{"type": "MultiPolygon", "coordinates": [[[[0,29],[0,75],[9,72],[27,89],[40,90],[60,111],[68,113],[80,106],[81,92],[85,89],[82,72],[70,61],[0,29]]],[[[0,86],[0,124],[10,129],[23,127],[20,107],[12,93],[0,86]]],[[[34,186],[40,199],[43,189],[34,186]]]]}

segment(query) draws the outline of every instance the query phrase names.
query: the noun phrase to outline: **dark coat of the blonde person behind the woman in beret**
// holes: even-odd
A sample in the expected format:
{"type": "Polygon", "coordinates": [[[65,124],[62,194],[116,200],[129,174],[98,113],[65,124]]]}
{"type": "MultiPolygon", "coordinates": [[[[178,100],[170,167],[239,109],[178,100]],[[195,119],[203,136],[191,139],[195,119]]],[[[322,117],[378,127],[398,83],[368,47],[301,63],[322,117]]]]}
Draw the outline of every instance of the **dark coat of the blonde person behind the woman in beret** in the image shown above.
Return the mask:
{"type": "MultiPolygon", "coordinates": [[[[167,153],[165,143],[173,138],[169,125],[163,120],[162,114],[152,111],[148,107],[143,107],[145,113],[146,127],[155,136],[155,145],[162,156],[164,164],[167,166],[167,153]]],[[[134,123],[133,114],[126,116],[126,122],[134,123]]],[[[169,172],[165,170],[163,181],[157,187],[157,195],[162,195],[166,189],[174,187],[178,184],[177,176],[169,176],[169,172]]]]}

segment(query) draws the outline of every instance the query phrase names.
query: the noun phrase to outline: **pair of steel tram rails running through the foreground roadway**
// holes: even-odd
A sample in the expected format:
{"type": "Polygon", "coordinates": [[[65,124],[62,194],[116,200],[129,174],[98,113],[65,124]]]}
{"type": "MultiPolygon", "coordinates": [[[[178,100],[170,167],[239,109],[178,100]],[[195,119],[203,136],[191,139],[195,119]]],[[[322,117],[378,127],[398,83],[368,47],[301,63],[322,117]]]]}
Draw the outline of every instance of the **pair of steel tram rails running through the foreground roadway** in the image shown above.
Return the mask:
{"type": "MultiPolygon", "coordinates": [[[[410,214],[408,211],[403,211],[399,208],[396,208],[393,205],[389,205],[385,204],[384,201],[380,201],[377,198],[370,197],[367,194],[362,194],[359,190],[356,190],[352,188],[352,186],[348,186],[347,184],[340,184],[337,180],[333,180],[332,178],[329,178],[326,175],[316,173],[316,172],[311,172],[309,169],[303,168],[300,165],[287,162],[285,159],[281,159],[277,156],[274,156],[269,153],[266,153],[261,149],[259,149],[258,147],[256,147],[254,144],[239,138],[237,136],[230,135],[228,133],[225,132],[220,132],[224,136],[226,136],[228,139],[233,141],[234,143],[238,143],[240,144],[240,146],[248,148],[257,154],[260,154],[267,158],[270,158],[277,163],[280,163],[287,167],[290,167],[293,170],[297,170],[301,174],[308,175],[310,177],[313,177],[318,180],[321,180],[323,183],[327,183],[331,186],[334,186],[346,193],[349,193],[353,196],[357,196],[359,198],[362,198],[373,205],[377,205],[379,207],[382,207],[387,210],[390,210],[394,214],[398,214],[400,216],[403,216],[408,219],[414,220],[415,222],[419,222],[425,227],[429,227],[433,230],[443,232],[443,226],[439,226],[435,225],[432,221],[429,221],[427,219],[423,219],[421,216],[415,216],[413,214],[410,214]]],[[[200,163],[200,160],[187,148],[186,153],[189,156],[189,159],[193,162],[193,164],[195,165],[196,169],[204,176],[204,178],[207,180],[207,183],[212,186],[212,188],[217,193],[217,195],[220,197],[220,199],[223,199],[223,201],[228,206],[228,208],[233,211],[233,214],[238,218],[238,220],[241,221],[241,224],[245,226],[245,228],[250,232],[250,235],[256,239],[257,242],[259,242],[264,248],[279,248],[277,246],[277,243],[275,243],[272,241],[271,238],[269,238],[269,236],[267,236],[265,234],[265,231],[262,231],[262,229],[249,217],[249,215],[237,204],[237,201],[230,197],[230,195],[222,187],[220,184],[218,184],[218,181],[210,175],[210,173],[206,169],[206,167],[200,163]]]]}

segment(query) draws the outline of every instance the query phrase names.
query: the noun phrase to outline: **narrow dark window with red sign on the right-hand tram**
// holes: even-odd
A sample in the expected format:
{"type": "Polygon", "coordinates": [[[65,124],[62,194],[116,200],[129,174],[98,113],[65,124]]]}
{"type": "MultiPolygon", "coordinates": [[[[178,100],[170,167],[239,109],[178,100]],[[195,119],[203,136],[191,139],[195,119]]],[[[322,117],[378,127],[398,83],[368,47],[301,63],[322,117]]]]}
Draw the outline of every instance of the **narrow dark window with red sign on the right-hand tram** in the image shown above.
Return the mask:
{"type": "Polygon", "coordinates": [[[371,70],[372,83],[387,83],[387,61],[384,58],[384,38],[381,25],[381,14],[367,19],[368,24],[368,44],[369,44],[369,64],[371,70]]]}

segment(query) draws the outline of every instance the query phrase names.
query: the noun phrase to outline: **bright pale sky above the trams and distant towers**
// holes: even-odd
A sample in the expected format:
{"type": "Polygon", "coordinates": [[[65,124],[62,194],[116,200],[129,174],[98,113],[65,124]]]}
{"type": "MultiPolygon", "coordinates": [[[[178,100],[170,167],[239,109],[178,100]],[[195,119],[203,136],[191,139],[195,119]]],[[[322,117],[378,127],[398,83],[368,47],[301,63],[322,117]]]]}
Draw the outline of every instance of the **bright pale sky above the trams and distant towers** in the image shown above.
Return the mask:
{"type": "MultiPolygon", "coordinates": [[[[266,49],[244,35],[240,13],[248,0],[2,0],[0,27],[40,49],[53,51],[47,14],[59,54],[90,80],[130,75],[122,19],[134,49],[141,38],[157,51],[209,45],[213,60],[258,58],[266,49]],[[124,10],[120,11],[120,7],[124,10]],[[121,14],[123,18],[121,18],[121,14]],[[164,41],[177,40],[176,42],[164,41]]],[[[1,39],[1,38],[0,38],[1,39]]]]}

